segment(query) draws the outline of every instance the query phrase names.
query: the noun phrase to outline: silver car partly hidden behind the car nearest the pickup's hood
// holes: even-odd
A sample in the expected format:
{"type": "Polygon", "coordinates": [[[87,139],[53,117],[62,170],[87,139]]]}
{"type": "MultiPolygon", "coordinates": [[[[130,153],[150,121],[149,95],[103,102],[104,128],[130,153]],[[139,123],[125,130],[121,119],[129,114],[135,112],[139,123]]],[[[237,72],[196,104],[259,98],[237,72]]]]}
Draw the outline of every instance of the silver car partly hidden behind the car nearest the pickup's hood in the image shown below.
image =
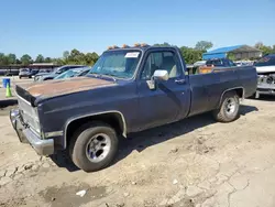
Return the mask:
{"type": "Polygon", "coordinates": [[[52,73],[38,73],[34,76],[34,81],[44,81],[54,79],[56,76],[63,74],[64,72],[78,67],[85,67],[85,65],[64,65],[55,68],[52,73]]]}

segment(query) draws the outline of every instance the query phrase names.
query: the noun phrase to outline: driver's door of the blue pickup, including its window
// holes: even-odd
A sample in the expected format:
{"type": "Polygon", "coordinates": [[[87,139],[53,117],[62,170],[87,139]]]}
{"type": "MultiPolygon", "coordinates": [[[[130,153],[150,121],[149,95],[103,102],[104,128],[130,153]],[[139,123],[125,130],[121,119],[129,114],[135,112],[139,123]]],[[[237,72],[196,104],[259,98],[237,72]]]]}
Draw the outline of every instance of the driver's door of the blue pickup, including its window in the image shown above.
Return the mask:
{"type": "Polygon", "coordinates": [[[141,130],[169,123],[187,116],[190,88],[176,50],[148,51],[140,72],[138,91],[141,130]],[[156,69],[167,70],[169,79],[160,80],[155,89],[150,89],[148,80],[156,69]]]}

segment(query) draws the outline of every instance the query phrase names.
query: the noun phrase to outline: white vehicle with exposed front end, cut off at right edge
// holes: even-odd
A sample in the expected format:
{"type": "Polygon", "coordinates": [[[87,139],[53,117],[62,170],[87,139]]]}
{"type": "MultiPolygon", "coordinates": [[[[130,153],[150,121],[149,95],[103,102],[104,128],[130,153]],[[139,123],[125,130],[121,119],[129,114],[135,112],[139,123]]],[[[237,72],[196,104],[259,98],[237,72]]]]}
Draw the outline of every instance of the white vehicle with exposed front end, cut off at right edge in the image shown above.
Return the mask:
{"type": "Polygon", "coordinates": [[[257,72],[255,98],[260,98],[260,95],[275,95],[275,54],[262,57],[254,66],[257,72]]]}

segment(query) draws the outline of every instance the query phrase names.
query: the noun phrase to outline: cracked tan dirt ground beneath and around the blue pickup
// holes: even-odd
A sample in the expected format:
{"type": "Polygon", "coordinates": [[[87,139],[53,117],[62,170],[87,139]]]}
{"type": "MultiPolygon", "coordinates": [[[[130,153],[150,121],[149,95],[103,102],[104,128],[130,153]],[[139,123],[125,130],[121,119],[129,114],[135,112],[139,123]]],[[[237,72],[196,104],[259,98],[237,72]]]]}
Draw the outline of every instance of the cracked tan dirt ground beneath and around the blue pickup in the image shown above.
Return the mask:
{"type": "Polygon", "coordinates": [[[275,206],[275,98],[244,100],[232,123],[202,115],[133,134],[110,167],[85,173],[21,144],[0,90],[1,207],[275,206]]]}

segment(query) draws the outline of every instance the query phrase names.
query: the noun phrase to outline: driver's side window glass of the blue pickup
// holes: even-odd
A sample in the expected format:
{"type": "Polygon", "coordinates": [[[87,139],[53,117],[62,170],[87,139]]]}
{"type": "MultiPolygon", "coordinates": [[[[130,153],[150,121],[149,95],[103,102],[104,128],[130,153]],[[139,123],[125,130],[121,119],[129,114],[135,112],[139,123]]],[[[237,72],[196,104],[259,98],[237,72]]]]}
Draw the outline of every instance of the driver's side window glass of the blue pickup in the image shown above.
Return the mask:
{"type": "Polygon", "coordinates": [[[175,78],[180,75],[177,67],[176,55],[173,52],[153,52],[147,56],[141,79],[148,80],[157,69],[168,72],[169,78],[175,78]]]}

